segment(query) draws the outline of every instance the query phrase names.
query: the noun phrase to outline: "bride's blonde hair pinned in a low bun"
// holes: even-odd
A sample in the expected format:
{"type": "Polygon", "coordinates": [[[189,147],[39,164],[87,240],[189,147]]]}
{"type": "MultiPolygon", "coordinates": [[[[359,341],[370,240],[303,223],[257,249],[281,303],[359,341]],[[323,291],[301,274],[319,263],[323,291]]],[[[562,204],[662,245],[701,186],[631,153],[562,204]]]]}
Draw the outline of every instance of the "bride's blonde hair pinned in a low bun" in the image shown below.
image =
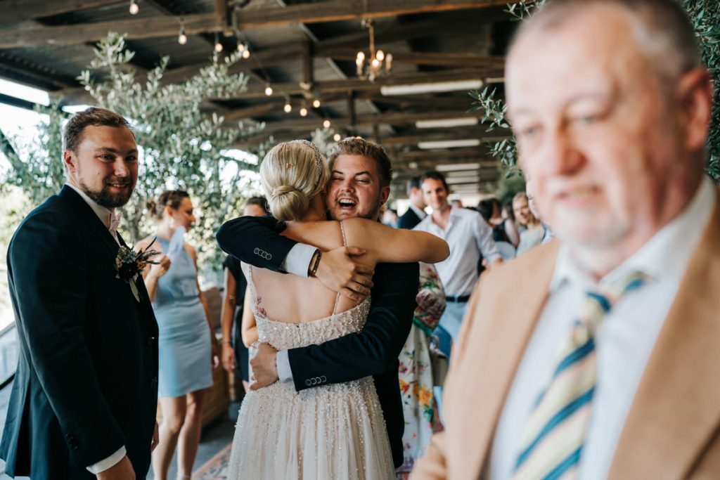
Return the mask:
{"type": "Polygon", "coordinates": [[[307,140],[275,145],[260,166],[270,211],[283,222],[300,219],[310,207],[310,199],[325,188],[329,176],[323,155],[307,140]]]}

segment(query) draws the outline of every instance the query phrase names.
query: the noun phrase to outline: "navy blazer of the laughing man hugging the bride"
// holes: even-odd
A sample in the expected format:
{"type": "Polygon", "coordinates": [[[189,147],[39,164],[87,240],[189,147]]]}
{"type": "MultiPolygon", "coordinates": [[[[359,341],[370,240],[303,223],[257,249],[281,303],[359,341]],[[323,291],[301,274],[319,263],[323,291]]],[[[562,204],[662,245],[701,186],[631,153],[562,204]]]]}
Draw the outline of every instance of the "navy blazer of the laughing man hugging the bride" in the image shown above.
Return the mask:
{"type": "MultiPolygon", "coordinates": [[[[217,243],[246,263],[280,271],[283,259],[297,243],[279,235],[282,230],[284,224],[273,217],[240,217],[220,227],[217,243]]],[[[413,325],[419,276],[418,263],[378,263],[370,313],[361,332],[288,350],[297,391],[315,386],[310,381],[306,384],[315,377],[325,376],[327,383],[337,384],[373,376],[396,467],[402,465],[405,430],[398,357],[413,325]]]]}

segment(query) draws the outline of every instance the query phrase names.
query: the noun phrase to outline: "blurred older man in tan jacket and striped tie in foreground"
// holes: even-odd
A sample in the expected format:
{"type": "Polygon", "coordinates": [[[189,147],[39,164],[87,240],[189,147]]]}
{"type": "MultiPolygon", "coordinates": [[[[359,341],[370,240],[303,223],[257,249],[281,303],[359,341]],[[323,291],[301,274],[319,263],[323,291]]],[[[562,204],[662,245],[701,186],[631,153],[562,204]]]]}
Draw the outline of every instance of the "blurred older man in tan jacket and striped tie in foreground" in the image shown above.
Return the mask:
{"type": "Polygon", "coordinates": [[[673,0],[551,0],[505,79],[557,240],[480,281],[414,478],[720,478],[720,210],[693,25],[673,0]]]}

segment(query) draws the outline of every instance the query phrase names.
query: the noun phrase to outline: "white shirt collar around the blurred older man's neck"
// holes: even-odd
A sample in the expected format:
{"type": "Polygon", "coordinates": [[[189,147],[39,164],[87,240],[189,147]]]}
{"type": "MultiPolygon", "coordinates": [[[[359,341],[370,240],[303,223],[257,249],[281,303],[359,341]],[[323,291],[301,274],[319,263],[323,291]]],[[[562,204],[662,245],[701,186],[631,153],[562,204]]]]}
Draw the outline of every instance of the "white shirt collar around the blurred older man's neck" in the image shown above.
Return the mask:
{"type": "MultiPolygon", "coordinates": [[[[710,221],[714,204],[714,189],[710,179],[705,177],[683,212],[655,233],[630,258],[603,276],[600,284],[611,284],[631,271],[642,271],[656,281],[680,284],[690,255],[696,249],[710,221]]],[[[550,281],[550,293],[554,293],[565,283],[589,287],[596,282],[573,261],[567,245],[562,245],[550,281]]]]}

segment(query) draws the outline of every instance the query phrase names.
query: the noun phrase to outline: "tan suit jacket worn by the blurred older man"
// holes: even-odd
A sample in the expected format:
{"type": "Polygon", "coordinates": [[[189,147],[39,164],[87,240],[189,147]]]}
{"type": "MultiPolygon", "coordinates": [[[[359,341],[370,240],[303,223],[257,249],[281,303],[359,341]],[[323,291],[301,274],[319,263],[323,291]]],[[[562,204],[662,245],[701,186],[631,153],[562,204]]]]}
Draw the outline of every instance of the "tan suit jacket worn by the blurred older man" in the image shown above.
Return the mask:
{"type": "MultiPolygon", "coordinates": [[[[541,245],[482,277],[445,384],[446,430],[433,436],[411,479],[481,478],[558,249],[557,241],[541,245]]],[[[608,479],[720,479],[717,199],[642,375],[608,479]]]]}

